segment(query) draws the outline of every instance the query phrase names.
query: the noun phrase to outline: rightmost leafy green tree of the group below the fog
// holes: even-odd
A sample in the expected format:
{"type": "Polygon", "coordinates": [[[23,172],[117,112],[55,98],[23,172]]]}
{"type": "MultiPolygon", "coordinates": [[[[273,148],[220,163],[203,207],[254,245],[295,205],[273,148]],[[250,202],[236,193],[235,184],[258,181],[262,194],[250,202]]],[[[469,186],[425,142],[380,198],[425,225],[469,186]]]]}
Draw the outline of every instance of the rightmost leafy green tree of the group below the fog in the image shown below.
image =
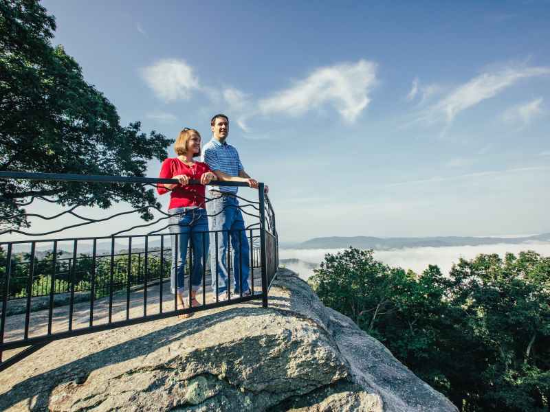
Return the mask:
{"type": "Polygon", "coordinates": [[[548,411],[550,258],[533,251],[461,259],[452,301],[485,354],[477,382],[483,410],[548,411]]]}

